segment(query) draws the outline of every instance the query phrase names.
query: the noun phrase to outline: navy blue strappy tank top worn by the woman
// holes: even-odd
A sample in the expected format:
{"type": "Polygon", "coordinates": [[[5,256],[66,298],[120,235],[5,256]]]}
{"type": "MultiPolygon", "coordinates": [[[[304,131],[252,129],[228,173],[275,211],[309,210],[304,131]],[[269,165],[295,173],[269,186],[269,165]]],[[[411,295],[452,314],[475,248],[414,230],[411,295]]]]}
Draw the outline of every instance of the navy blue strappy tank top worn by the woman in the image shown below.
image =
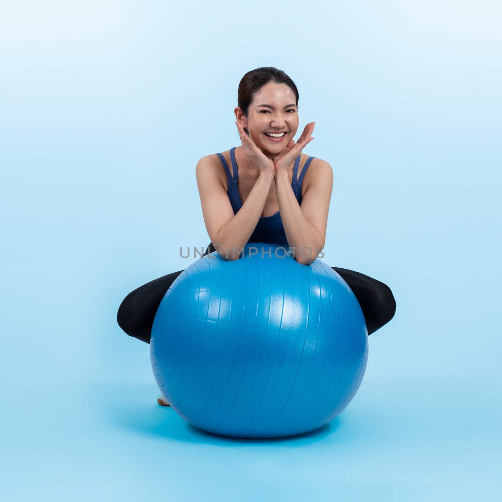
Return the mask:
{"type": "MultiPolygon", "coordinates": [[[[230,199],[230,204],[232,205],[233,214],[237,214],[237,211],[242,207],[242,201],[240,200],[239,191],[237,189],[238,171],[237,163],[235,162],[235,150],[233,147],[230,150],[230,160],[232,161],[233,178],[228,169],[228,164],[222,154],[217,154],[223,164],[226,172],[226,177],[228,179],[228,198],[230,199]]],[[[295,160],[295,166],[293,168],[293,181],[291,183],[291,188],[295,193],[296,200],[298,204],[302,203],[302,183],[305,173],[315,157],[309,157],[305,162],[305,166],[302,170],[300,178],[298,177],[298,168],[300,167],[300,155],[295,160]]],[[[282,224],[281,214],[279,211],[272,214],[271,216],[262,216],[255,227],[252,235],[249,237],[248,242],[272,242],[274,244],[279,244],[283,246],[288,246],[288,239],[286,238],[286,232],[284,231],[284,226],[282,224]]]]}

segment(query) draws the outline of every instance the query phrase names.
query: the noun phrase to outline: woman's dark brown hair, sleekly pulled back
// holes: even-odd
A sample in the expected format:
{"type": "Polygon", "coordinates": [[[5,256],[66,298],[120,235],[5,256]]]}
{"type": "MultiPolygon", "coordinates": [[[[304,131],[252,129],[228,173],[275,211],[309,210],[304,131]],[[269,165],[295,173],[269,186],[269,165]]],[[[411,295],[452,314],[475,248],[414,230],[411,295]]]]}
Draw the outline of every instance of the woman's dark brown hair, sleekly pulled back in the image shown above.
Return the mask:
{"type": "MultiPolygon", "coordinates": [[[[274,66],[262,66],[255,70],[248,71],[239,82],[237,90],[237,106],[247,118],[249,105],[253,101],[254,95],[269,82],[276,84],[286,84],[295,93],[296,108],[298,109],[298,89],[295,82],[282,70],[274,66]]],[[[244,128],[244,132],[249,136],[249,132],[244,128]]]]}

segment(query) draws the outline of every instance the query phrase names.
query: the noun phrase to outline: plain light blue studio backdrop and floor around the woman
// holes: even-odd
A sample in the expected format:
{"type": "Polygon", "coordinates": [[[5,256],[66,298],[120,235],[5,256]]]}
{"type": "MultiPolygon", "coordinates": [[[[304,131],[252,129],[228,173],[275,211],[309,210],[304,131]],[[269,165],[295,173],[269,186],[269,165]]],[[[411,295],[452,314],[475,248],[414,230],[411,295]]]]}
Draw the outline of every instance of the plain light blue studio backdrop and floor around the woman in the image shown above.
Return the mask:
{"type": "Polygon", "coordinates": [[[5,499],[500,497],[501,18],[483,0],[3,6],[5,499]],[[388,284],[397,312],[327,430],[238,441],[157,405],[116,311],[205,249],[195,165],[240,145],[238,82],[269,65],[333,168],[323,261],[388,284]]]}

